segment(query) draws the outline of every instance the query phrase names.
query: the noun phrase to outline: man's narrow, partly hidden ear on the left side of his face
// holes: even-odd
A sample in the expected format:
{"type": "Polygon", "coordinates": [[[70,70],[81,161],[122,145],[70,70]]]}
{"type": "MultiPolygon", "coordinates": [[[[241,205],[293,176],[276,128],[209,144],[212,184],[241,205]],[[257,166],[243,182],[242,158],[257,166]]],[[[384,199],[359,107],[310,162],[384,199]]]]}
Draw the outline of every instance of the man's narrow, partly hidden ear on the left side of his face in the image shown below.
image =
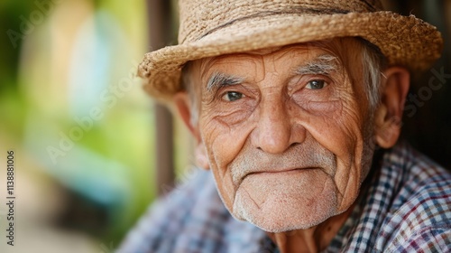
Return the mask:
{"type": "Polygon", "coordinates": [[[179,111],[179,115],[182,118],[185,125],[189,128],[189,131],[196,139],[196,164],[203,168],[203,169],[209,169],[208,164],[208,156],[207,151],[205,149],[205,145],[203,144],[199,132],[198,132],[198,126],[193,126],[191,121],[191,102],[189,99],[189,95],[186,91],[179,92],[174,95],[174,103],[179,111]]]}

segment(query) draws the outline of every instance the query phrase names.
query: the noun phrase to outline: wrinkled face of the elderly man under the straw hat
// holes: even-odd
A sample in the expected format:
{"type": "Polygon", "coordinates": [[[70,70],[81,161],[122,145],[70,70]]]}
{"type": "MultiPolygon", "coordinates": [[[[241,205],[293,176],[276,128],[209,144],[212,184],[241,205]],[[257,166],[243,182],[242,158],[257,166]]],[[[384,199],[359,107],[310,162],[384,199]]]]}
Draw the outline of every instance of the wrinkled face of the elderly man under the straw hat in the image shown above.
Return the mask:
{"type": "Polygon", "coordinates": [[[343,42],[193,63],[198,133],[235,218],[270,232],[308,229],[356,199],[373,117],[360,44],[343,42]]]}

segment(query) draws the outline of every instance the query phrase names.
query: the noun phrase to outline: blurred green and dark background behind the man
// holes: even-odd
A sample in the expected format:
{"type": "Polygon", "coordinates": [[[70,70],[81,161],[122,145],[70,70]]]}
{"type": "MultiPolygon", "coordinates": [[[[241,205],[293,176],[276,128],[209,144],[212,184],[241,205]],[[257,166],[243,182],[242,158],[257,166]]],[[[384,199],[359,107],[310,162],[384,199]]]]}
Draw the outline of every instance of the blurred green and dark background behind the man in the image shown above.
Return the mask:
{"type": "MultiPolygon", "coordinates": [[[[403,137],[451,168],[451,0],[383,2],[444,35],[444,56],[415,73],[403,137]]],[[[145,52],[177,42],[174,3],[0,2],[0,164],[14,150],[16,166],[14,248],[0,175],[0,252],[114,252],[193,164],[188,132],[135,76],[145,52]]]]}

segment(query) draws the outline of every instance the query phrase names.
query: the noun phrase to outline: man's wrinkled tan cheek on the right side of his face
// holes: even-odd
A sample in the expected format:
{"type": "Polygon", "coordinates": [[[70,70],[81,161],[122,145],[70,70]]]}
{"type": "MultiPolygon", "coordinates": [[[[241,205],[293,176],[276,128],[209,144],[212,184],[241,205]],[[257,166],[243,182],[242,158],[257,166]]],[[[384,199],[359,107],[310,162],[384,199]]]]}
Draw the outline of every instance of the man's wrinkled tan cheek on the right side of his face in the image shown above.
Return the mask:
{"type": "Polygon", "coordinates": [[[338,209],[345,210],[356,198],[361,183],[363,158],[363,117],[354,101],[333,104],[309,103],[307,131],[336,155],[334,181],[338,209]]]}

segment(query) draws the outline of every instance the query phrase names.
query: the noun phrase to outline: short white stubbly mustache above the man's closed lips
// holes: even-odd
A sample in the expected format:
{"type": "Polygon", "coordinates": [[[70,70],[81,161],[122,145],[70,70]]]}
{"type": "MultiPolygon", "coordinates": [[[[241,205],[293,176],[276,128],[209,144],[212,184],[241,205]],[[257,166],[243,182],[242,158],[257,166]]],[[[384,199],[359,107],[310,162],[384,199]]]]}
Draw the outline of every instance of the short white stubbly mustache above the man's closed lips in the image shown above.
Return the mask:
{"type": "Polygon", "coordinates": [[[336,172],[336,155],[316,141],[292,145],[284,153],[278,155],[268,154],[246,144],[228,167],[232,181],[235,187],[238,187],[251,173],[276,173],[295,169],[319,168],[333,176],[336,172]]]}

